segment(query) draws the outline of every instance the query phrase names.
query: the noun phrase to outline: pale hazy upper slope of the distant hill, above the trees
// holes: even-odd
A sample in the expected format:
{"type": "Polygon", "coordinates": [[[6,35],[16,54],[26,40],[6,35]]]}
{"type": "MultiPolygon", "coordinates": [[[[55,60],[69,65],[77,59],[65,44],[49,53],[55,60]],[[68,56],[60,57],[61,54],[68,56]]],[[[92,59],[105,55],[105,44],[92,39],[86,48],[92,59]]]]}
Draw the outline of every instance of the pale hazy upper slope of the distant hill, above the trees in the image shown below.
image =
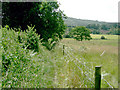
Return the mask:
{"type": "Polygon", "coordinates": [[[84,19],[76,19],[68,17],[67,19],[64,19],[64,22],[67,26],[87,26],[88,24],[105,24],[110,25],[112,23],[107,22],[100,22],[100,21],[94,21],[94,20],[84,20],[84,19]]]}

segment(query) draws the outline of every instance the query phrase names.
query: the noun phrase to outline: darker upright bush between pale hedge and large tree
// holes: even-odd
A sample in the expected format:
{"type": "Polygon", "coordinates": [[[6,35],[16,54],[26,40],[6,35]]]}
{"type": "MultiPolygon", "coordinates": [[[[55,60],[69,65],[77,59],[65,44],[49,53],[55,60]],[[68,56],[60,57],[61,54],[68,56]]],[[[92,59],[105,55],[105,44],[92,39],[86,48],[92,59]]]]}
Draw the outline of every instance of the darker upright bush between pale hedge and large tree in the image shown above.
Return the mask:
{"type": "Polygon", "coordinates": [[[36,34],[36,29],[34,27],[28,26],[26,32],[18,32],[18,40],[20,43],[25,42],[24,47],[27,49],[34,50],[36,52],[39,51],[39,38],[40,36],[36,34]],[[24,33],[24,34],[20,34],[24,33]],[[22,39],[23,38],[23,39],[22,39]]]}

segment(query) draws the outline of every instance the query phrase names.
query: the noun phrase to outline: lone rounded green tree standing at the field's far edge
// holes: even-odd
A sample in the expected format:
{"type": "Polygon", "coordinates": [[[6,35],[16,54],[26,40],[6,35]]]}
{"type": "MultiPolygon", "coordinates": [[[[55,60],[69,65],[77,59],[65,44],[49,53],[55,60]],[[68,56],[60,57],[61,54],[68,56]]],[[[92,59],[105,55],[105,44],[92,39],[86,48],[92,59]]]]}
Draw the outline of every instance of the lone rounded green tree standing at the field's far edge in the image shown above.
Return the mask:
{"type": "Polygon", "coordinates": [[[85,40],[92,39],[90,33],[91,33],[90,30],[84,26],[77,26],[70,31],[71,37],[78,41],[82,41],[83,39],[85,40]]]}

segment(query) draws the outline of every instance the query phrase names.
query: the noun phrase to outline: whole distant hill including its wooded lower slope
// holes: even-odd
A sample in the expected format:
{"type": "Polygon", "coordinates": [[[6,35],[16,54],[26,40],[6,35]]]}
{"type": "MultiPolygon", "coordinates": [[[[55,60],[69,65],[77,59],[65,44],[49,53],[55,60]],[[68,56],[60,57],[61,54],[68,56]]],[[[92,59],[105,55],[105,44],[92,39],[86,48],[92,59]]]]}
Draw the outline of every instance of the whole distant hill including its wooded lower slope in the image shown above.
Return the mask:
{"type": "Polygon", "coordinates": [[[71,17],[64,19],[64,22],[68,27],[66,33],[69,33],[69,31],[75,26],[85,26],[90,29],[93,34],[118,34],[118,23],[76,19],[71,17]]]}

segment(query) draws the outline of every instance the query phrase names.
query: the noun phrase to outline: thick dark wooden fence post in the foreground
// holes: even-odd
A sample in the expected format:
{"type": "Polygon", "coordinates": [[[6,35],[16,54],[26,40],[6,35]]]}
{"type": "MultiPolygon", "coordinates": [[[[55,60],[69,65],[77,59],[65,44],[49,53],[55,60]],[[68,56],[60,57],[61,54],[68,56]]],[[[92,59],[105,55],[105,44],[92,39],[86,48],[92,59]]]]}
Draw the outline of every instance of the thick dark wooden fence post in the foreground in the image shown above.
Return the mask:
{"type": "Polygon", "coordinates": [[[101,87],[101,67],[95,67],[95,90],[100,90],[101,87]]]}

